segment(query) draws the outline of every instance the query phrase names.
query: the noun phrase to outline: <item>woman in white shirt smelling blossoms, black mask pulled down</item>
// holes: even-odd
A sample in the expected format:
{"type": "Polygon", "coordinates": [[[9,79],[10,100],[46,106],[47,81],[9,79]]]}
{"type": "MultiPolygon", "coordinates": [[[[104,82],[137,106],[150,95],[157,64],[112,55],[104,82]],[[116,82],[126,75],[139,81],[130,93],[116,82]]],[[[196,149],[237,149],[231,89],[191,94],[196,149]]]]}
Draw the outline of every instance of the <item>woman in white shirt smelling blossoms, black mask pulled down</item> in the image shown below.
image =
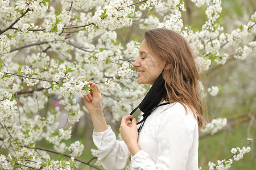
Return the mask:
{"type": "Polygon", "coordinates": [[[92,91],[84,96],[103,167],[123,169],[131,156],[131,169],[198,169],[198,130],[204,119],[199,75],[187,41],[168,29],[147,31],[133,65],[139,71],[137,82],[153,86],[137,107],[144,112],[142,123],[137,126],[132,115],[122,118],[123,141],[106,124],[97,85],[90,82],[92,91]]]}

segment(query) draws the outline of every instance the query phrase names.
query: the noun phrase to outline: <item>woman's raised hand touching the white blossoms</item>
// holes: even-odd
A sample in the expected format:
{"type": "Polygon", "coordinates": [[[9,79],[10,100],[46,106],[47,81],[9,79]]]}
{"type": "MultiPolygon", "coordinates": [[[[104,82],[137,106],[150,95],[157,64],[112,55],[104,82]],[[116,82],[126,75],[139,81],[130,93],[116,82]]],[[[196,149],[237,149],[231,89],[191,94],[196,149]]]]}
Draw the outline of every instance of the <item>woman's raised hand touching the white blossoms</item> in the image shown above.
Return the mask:
{"type": "Polygon", "coordinates": [[[97,113],[98,109],[102,109],[101,91],[97,84],[89,82],[89,85],[92,89],[90,89],[90,93],[88,95],[84,96],[85,107],[88,109],[89,113],[97,113]]]}

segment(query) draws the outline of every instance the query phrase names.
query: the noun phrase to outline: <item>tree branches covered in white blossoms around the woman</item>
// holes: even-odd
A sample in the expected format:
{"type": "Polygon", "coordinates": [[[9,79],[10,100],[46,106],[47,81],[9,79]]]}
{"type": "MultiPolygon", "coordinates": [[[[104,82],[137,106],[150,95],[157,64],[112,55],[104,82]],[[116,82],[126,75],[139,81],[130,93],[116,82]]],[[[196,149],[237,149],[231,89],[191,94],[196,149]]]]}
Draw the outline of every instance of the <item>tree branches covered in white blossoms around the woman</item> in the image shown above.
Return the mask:
{"type": "MultiPolygon", "coordinates": [[[[69,125],[86,113],[79,97],[86,95],[88,81],[101,85],[104,107],[113,105],[113,121],[129,113],[146,94],[137,86],[131,63],[140,42],[119,42],[117,31],[125,27],[168,28],[183,35],[191,44],[199,72],[215,63],[225,65],[228,57],[245,59],[255,50],[256,12],[232,32],[218,23],[220,0],[192,0],[207,7],[207,20],[201,29],[184,25],[186,10],[181,0],[0,0],[0,167],[12,169],[73,169],[86,164],[79,159],[84,145],[71,138],[72,126],[59,128],[58,119],[67,117],[69,125]],[[135,25],[135,26],[134,26],[135,25]],[[249,39],[249,42],[243,41],[249,39]],[[231,50],[235,49],[235,50],[231,50]],[[60,107],[48,110],[55,97],[60,107]],[[46,139],[54,150],[37,146],[46,139]],[[69,152],[69,154],[65,154],[69,152]],[[2,153],[2,152],[1,152],[2,153]],[[64,157],[53,160],[50,153],[64,157]]],[[[207,95],[199,82],[202,96],[207,95]]],[[[209,87],[214,96],[218,87],[209,87]]],[[[216,119],[204,130],[215,133],[225,126],[216,119]]],[[[250,147],[233,148],[234,160],[250,147]]],[[[97,157],[97,150],[93,150],[97,157]]],[[[228,169],[232,159],[209,163],[210,169],[228,169]]]]}

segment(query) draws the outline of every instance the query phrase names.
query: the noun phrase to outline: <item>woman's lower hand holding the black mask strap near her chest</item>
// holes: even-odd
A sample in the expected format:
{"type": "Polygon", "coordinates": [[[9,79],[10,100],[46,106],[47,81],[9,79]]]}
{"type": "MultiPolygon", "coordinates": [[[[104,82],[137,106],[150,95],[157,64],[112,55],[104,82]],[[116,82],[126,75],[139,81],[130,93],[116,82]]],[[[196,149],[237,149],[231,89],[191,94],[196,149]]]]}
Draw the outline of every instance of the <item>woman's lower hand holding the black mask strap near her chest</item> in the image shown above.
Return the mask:
{"type": "Polygon", "coordinates": [[[135,118],[133,121],[129,119],[132,118],[132,115],[128,115],[122,118],[121,125],[120,125],[120,133],[123,141],[125,141],[129,152],[131,155],[137,154],[138,151],[141,150],[138,145],[138,128],[137,122],[135,118]]]}

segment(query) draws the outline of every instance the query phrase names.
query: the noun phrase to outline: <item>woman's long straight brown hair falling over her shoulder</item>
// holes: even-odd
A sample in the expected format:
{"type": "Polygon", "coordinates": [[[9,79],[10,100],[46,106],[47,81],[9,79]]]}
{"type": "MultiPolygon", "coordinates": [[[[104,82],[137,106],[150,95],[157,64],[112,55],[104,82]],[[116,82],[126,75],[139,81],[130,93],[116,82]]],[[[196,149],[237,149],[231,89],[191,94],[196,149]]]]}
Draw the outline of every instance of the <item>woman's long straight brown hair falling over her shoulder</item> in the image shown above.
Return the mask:
{"type": "Polygon", "coordinates": [[[163,78],[166,80],[164,99],[187,106],[197,116],[199,129],[205,123],[198,91],[199,73],[188,42],[170,29],[151,29],[144,33],[148,48],[160,60],[166,61],[163,78]]]}

